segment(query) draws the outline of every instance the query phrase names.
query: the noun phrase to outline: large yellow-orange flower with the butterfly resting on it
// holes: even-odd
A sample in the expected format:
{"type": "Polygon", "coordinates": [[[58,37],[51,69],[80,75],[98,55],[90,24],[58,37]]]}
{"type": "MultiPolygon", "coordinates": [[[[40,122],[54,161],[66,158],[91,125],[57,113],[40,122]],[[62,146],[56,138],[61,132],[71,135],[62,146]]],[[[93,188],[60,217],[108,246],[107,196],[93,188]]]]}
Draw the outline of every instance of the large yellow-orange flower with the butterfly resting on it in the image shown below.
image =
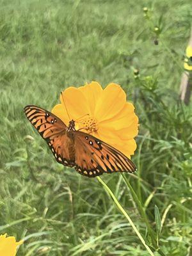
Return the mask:
{"type": "Polygon", "coordinates": [[[76,130],[92,134],[129,158],[134,154],[138,116],[134,106],[126,102],[126,94],[120,85],[111,83],[103,89],[93,81],[79,88],[67,88],[60,100],[61,104],[54,106],[52,113],[66,125],[73,119],[76,130]]]}

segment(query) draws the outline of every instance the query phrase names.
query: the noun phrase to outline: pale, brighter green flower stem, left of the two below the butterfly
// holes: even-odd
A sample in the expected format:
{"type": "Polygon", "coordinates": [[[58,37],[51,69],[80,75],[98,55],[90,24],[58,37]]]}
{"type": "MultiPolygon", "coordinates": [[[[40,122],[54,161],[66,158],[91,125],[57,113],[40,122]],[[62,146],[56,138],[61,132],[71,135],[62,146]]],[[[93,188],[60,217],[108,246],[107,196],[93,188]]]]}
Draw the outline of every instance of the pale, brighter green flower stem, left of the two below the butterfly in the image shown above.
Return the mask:
{"type": "Polygon", "coordinates": [[[124,214],[125,218],[127,218],[127,220],[129,221],[129,223],[131,224],[131,227],[134,229],[134,231],[136,232],[136,234],[138,235],[138,237],[141,240],[141,243],[143,243],[143,245],[145,246],[147,252],[151,255],[151,256],[155,256],[154,253],[152,252],[152,250],[150,250],[150,248],[148,247],[148,245],[145,243],[145,240],[143,239],[143,237],[141,236],[140,232],[138,231],[138,229],[136,228],[136,226],[134,225],[134,223],[132,222],[131,218],[129,217],[129,215],[127,214],[127,212],[124,210],[124,208],[122,207],[122,205],[120,205],[120,203],[118,202],[118,200],[116,199],[115,195],[113,194],[113,192],[111,191],[111,189],[109,189],[108,185],[100,178],[97,177],[97,179],[99,180],[99,182],[102,184],[102,186],[104,186],[104,188],[106,189],[106,191],[108,191],[109,195],[113,198],[116,206],[118,207],[118,209],[122,212],[122,214],[124,214]]]}

